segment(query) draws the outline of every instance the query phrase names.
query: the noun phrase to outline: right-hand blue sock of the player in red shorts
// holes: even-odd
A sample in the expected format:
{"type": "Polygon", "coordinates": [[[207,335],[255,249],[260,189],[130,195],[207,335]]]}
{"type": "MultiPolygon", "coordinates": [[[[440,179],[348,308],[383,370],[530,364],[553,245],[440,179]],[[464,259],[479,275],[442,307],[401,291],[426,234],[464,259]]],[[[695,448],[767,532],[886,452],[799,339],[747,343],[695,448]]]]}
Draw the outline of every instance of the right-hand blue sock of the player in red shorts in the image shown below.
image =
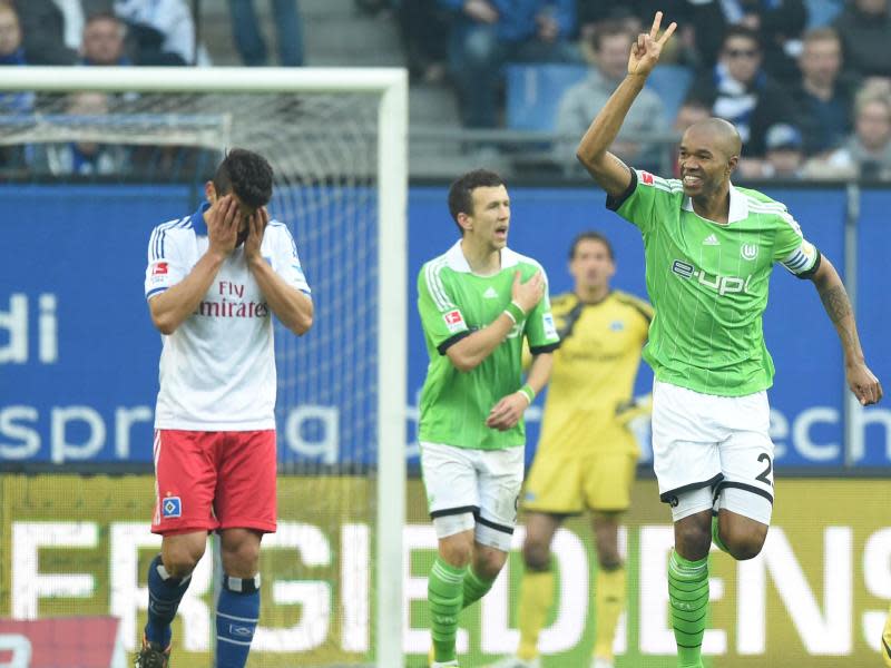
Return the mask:
{"type": "Polygon", "coordinates": [[[260,576],[223,577],[216,605],[216,666],[244,668],[260,621],[260,576]]]}

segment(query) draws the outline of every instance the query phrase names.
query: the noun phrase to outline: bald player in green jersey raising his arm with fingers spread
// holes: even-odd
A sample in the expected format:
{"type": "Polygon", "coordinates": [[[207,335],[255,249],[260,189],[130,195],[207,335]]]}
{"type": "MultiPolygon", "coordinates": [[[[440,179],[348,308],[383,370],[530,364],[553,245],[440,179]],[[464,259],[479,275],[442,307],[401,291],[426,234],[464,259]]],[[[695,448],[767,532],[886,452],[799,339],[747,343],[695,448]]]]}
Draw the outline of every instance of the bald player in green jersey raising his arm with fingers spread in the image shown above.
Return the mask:
{"type": "Polygon", "coordinates": [[[681,180],[629,169],[607,149],[656,66],[675,23],[631,46],[628,75],[594,119],[577,157],[607,193],[607,207],[644,237],[647,292],[656,310],[644,358],[655,372],[654,468],[672,507],[668,591],[678,666],[701,667],[712,541],[735,559],[764,544],[773,504],[773,443],[764,345],[767,284],[780,263],[816,287],[844,352],[848,384],[863,405],[882,396],[863,360],[844,286],[786,207],[731,183],[740,136],[712,118],[684,132],[681,180]],[[713,508],[717,515],[713,521],[713,508]]]}

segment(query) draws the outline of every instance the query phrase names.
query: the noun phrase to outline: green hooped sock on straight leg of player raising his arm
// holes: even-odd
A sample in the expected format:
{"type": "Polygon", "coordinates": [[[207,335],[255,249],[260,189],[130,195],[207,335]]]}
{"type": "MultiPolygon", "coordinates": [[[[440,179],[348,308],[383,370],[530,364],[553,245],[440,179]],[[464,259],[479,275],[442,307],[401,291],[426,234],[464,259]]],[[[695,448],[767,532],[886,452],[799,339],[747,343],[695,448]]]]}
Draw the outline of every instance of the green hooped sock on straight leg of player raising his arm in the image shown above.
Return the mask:
{"type": "Polygon", "coordinates": [[[668,599],[677,642],[678,668],[702,668],[702,645],[708,612],[708,558],[684,559],[672,550],[668,599]]]}

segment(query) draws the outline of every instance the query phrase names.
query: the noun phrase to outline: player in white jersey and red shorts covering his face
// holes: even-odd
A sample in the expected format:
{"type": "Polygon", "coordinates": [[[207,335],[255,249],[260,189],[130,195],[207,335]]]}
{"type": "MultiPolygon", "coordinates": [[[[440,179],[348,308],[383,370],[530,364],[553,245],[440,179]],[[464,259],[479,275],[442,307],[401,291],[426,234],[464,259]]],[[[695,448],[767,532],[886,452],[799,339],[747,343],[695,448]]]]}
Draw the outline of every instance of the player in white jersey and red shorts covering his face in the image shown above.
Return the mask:
{"type": "Polygon", "coordinates": [[[151,531],[163,540],[141,668],[168,665],[170,622],[210,531],[224,571],[216,666],[245,665],[260,617],[260,542],[276,522],[272,314],[298,335],[313,320],[294,239],[266,212],[272,177],[262,156],[229,151],[207,203],[149,240],[146,297],[164,343],[151,531]]]}

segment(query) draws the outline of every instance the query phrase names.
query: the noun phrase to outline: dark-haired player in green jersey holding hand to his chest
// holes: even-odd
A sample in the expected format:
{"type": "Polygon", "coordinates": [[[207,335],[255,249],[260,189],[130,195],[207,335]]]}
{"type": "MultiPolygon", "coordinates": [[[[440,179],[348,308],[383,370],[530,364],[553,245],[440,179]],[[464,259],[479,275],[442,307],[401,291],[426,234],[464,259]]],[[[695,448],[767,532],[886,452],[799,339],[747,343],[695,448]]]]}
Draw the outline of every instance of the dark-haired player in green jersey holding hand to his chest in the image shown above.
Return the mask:
{"type": "Polygon", "coordinates": [[[507,247],[501,178],[470,171],[449,190],[461,238],[424,264],[418,311],[430,364],[419,441],[439,554],[428,580],[432,666],[458,666],[458,613],[489,591],[510,550],[522,483],[522,414],[548,380],[558,336],[547,278],[507,247]],[[522,342],[533,355],[522,381],[522,342]]]}

